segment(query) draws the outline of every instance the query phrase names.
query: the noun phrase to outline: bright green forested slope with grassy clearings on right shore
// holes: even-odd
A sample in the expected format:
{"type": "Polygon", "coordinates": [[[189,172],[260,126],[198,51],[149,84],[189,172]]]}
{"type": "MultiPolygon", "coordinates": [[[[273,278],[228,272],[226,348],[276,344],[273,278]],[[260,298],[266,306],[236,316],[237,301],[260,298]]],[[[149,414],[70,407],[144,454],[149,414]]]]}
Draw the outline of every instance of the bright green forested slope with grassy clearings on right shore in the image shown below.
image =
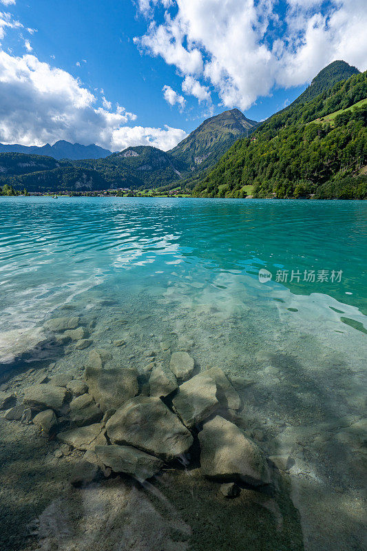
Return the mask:
{"type": "Polygon", "coordinates": [[[357,72],[311,100],[293,102],[260,125],[251,139],[237,141],[196,182],[193,194],[367,197],[366,98],[367,72],[357,72]]]}

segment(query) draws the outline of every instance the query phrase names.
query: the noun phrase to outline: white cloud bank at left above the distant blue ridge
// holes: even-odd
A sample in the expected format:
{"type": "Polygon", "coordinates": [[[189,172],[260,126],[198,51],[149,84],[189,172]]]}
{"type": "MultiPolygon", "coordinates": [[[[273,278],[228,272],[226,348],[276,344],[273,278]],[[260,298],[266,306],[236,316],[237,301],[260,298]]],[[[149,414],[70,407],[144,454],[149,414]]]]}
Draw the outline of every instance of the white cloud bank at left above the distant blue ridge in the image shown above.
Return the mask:
{"type": "MultiPolygon", "coordinates": [[[[103,101],[103,100],[102,100],[103,101]]],[[[43,145],[59,139],[96,143],[116,151],[129,145],[170,149],[185,138],[171,127],[128,126],[136,115],[117,105],[97,107],[98,98],[70,73],[34,55],[0,50],[0,142],[43,145]]]]}

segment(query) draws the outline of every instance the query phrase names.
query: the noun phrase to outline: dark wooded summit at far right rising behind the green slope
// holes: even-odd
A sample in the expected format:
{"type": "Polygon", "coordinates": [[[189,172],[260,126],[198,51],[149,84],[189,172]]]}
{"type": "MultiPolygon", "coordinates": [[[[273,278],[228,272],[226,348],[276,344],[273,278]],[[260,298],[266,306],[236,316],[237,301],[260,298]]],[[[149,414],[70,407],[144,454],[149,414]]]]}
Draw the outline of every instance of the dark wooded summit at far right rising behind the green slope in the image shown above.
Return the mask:
{"type": "Polygon", "coordinates": [[[333,61],[329,65],[326,65],[319,74],[315,76],[311,84],[304,90],[304,92],[289,105],[295,105],[297,103],[306,103],[311,101],[316,96],[332,88],[337,82],[349,79],[353,74],[359,74],[357,67],[349,65],[345,61],[333,61]]]}

